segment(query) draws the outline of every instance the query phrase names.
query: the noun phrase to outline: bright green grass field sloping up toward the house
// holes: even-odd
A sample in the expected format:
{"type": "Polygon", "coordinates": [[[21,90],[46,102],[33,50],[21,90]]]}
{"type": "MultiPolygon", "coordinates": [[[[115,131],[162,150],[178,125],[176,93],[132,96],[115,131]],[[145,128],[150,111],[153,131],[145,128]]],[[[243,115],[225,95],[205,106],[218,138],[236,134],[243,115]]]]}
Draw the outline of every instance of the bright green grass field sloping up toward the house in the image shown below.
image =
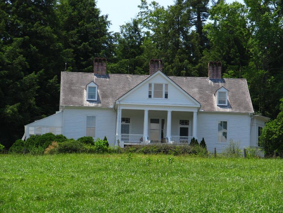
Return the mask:
{"type": "Polygon", "coordinates": [[[0,212],[283,212],[283,160],[0,155],[0,212]]]}

